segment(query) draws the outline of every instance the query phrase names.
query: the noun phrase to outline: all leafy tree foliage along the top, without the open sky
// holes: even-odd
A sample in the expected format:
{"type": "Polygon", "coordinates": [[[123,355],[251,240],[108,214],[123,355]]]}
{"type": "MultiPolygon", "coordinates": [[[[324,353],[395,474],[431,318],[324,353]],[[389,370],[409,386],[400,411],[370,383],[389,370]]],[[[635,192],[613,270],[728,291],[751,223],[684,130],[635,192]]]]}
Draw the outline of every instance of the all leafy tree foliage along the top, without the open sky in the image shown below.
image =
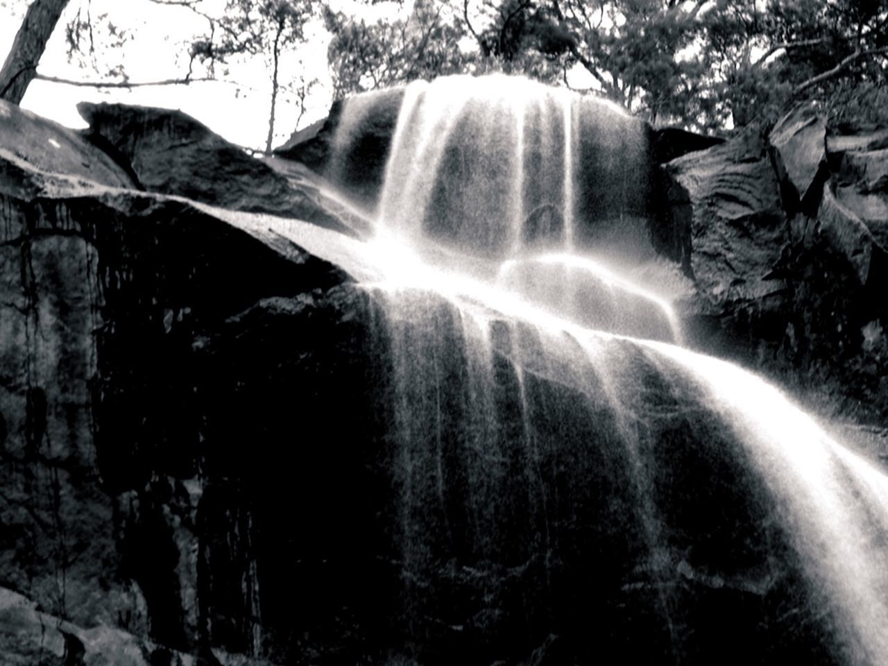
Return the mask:
{"type": "MultiPolygon", "coordinates": [[[[270,136],[279,95],[305,112],[317,82],[280,66],[317,38],[305,28],[319,20],[334,98],[455,73],[567,84],[584,71],[598,94],[652,123],[699,131],[770,123],[811,98],[843,123],[888,115],[879,111],[888,0],[399,0],[395,20],[334,11],[329,0],[226,0],[215,14],[202,0],[152,2],[207,21],[186,47],[186,73],[160,83],[224,77],[236,61],[261,59],[272,89],[270,136]]],[[[353,3],[374,8],[377,0],[353,3]]],[[[115,58],[133,35],[90,6],[83,0],[67,25],[69,57],[110,85],[135,85],[115,58]]]]}

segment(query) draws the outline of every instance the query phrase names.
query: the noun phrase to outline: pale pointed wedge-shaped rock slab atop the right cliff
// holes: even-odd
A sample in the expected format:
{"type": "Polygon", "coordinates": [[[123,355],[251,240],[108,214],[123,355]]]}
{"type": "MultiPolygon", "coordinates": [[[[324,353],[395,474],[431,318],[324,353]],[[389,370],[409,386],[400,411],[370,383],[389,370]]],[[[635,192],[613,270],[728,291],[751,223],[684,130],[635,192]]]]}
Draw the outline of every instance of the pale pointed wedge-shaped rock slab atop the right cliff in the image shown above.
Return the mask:
{"type": "Polygon", "coordinates": [[[781,118],[771,131],[774,168],[790,215],[817,208],[828,172],[826,136],[826,123],[817,109],[808,105],[781,118]]]}

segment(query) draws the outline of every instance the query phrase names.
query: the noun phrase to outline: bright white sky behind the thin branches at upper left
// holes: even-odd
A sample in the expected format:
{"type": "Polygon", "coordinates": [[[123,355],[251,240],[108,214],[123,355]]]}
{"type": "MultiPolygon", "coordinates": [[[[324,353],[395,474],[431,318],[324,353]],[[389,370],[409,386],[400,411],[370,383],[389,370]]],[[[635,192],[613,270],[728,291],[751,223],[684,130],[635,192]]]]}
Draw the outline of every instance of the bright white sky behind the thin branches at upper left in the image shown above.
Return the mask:
{"type": "MultiPolygon", "coordinates": [[[[337,0],[345,11],[358,11],[353,0],[337,0]]],[[[5,59],[12,46],[29,0],[0,0],[0,53],[5,59]]],[[[43,75],[77,81],[108,80],[91,65],[79,67],[68,62],[65,44],[65,26],[78,10],[86,11],[87,4],[93,18],[106,14],[104,20],[94,21],[116,30],[126,30],[132,39],[117,52],[108,52],[102,64],[112,66],[123,61],[132,82],[158,81],[181,78],[187,71],[187,44],[205,31],[206,20],[184,7],[160,6],[149,0],[71,0],[47,44],[38,71],[43,75]]],[[[202,0],[207,12],[224,6],[224,0],[202,0]]],[[[397,5],[379,3],[363,10],[368,19],[391,15],[397,5]]],[[[300,127],[327,115],[330,104],[329,72],[327,69],[326,35],[320,23],[309,26],[309,44],[301,52],[290,53],[281,63],[281,80],[296,72],[309,79],[318,78],[319,84],[306,105],[300,127]]],[[[100,43],[101,33],[96,32],[100,43]]],[[[98,53],[102,60],[102,53],[98,53]]],[[[226,139],[251,148],[265,147],[268,133],[268,111],[271,81],[266,65],[253,61],[233,66],[226,77],[235,83],[195,82],[189,85],[148,86],[126,89],[95,89],[35,80],[28,86],[21,106],[44,115],[68,127],[86,126],[77,114],[77,102],[119,101],[152,107],[179,108],[207,124],[211,130],[226,139]]],[[[278,121],[275,123],[274,145],[280,145],[296,129],[298,107],[295,99],[283,94],[278,102],[278,121]]]]}

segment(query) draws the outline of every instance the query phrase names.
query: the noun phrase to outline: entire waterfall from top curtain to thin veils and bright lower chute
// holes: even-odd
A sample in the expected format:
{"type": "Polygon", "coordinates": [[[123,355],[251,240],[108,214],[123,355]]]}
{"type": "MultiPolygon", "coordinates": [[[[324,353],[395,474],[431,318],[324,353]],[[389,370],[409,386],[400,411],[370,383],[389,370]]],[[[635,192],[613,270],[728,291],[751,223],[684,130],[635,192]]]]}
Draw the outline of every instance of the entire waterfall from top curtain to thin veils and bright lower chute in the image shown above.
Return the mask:
{"type": "Polygon", "coordinates": [[[650,258],[641,136],[523,79],[408,87],[363,286],[391,363],[392,649],[888,663],[884,473],[667,344],[668,302],[613,268],[650,258]]]}

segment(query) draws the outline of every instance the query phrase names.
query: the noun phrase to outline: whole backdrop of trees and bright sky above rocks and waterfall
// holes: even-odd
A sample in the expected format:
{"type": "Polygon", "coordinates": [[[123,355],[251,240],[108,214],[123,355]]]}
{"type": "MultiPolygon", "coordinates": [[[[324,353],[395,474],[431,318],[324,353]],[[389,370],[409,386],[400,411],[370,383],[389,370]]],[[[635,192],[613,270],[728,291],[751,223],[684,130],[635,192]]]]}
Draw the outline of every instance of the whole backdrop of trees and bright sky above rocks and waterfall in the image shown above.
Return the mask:
{"type": "Polygon", "coordinates": [[[0,97],[180,107],[270,151],[357,92],[506,72],[730,134],[816,99],[888,123],[888,0],[0,0],[0,97]]]}

